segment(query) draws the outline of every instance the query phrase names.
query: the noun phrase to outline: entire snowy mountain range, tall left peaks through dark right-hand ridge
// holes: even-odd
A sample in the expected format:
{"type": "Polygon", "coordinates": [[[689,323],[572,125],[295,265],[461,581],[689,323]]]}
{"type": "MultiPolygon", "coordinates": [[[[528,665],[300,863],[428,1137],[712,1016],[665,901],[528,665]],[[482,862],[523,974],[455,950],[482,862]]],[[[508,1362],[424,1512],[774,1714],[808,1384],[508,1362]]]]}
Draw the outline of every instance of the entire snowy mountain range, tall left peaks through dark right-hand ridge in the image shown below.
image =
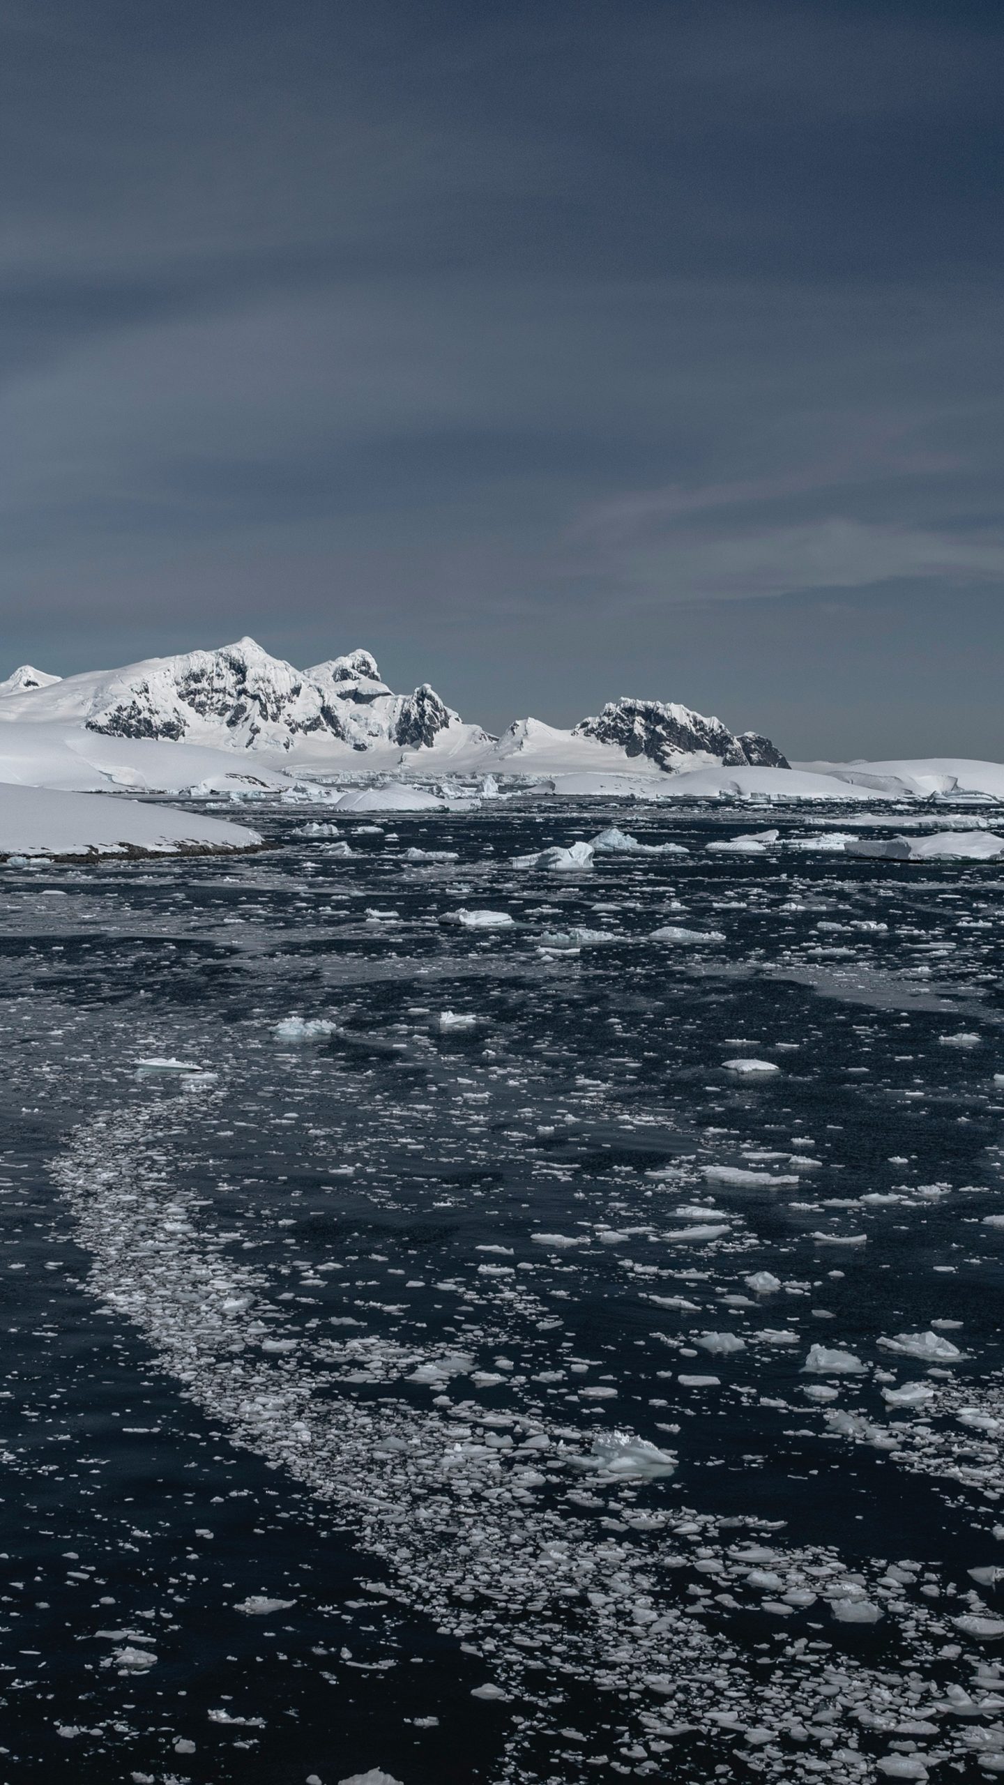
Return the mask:
{"type": "MultiPolygon", "coordinates": [[[[700,766],[788,768],[766,737],[736,737],[720,719],[657,700],[616,700],[572,730],[516,719],[502,737],[464,725],[425,682],[395,694],[370,652],[295,669],[254,639],[214,652],[152,657],[123,669],[59,680],[23,666],[0,682],[0,721],[96,734],[123,743],[172,743],[255,751],[297,768],[325,762],[423,773],[554,771],[638,775],[700,766]]],[[[7,739],[13,734],[7,732],[7,739]]]]}

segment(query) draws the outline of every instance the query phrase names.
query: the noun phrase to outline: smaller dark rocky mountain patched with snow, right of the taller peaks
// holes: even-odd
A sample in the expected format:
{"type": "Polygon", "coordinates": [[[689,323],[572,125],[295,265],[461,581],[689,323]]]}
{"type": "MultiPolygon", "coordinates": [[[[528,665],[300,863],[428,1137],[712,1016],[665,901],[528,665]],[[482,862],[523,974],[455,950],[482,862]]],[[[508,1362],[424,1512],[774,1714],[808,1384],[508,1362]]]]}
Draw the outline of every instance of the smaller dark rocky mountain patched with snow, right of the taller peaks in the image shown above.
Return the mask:
{"type": "Polygon", "coordinates": [[[582,719],[573,737],[595,737],[616,744],[629,757],[648,757],[661,769],[691,768],[693,757],[724,768],[786,769],[788,762],[770,737],[741,732],[738,737],[722,719],[706,719],[690,707],[663,700],[607,700],[595,719],[582,719]]]}

